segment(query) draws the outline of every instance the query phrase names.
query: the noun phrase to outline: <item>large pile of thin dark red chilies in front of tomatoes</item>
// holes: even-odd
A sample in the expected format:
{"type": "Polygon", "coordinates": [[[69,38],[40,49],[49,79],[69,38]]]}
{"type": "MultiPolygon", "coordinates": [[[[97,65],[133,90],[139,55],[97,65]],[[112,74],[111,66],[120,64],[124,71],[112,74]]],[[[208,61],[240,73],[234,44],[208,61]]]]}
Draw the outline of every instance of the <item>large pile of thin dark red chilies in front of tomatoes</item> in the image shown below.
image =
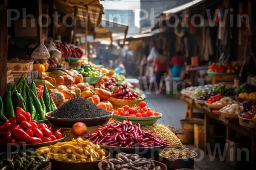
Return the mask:
{"type": "Polygon", "coordinates": [[[123,123],[115,121],[110,125],[100,126],[85,138],[94,144],[118,147],[169,146],[168,142],[154,136],[152,133],[141,130],[140,124],[132,125],[131,121],[126,119],[123,123]]]}

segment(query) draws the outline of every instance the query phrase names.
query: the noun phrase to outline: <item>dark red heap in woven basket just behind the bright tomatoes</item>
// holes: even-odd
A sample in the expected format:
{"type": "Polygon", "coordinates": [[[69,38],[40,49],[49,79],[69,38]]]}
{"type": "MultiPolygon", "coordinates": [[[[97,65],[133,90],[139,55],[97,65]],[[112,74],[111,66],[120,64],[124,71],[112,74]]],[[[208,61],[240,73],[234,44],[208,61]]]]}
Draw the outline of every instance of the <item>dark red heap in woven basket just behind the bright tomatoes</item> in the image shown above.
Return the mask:
{"type": "Polygon", "coordinates": [[[137,99],[138,95],[134,91],[131,91],[127,85],[122,84],[116,88],[111,97],[116,99],[135,100],[137,99]]]}

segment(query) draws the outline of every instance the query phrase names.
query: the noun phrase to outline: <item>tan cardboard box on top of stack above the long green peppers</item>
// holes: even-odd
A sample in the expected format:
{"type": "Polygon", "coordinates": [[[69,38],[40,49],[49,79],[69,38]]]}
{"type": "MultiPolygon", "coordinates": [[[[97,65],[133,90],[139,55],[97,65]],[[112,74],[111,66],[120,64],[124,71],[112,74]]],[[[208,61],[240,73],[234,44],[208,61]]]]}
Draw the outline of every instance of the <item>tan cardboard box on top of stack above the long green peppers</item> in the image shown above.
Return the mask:
{"type": "Polygon", "coordinates": [[[7,63],[7,70],[12,70],[12,73],[30,73],[33,69],[33,61],[27,63],[7,63]]]}

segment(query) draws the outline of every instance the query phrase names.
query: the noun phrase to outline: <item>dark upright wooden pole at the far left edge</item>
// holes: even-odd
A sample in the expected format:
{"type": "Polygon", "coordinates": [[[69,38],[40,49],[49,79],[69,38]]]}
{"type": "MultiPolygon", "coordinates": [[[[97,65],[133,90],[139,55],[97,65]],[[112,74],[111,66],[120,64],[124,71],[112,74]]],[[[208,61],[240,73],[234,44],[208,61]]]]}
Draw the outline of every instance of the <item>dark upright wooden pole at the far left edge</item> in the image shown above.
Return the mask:
{"type": "Polygon", "coordinates": [[[0,17],[3,18],[3,27],[0,28],[0,95],[6,91],[7,85],[7,41],[8,41],[8,28],[7,28],[7,0],[4,1],[3,10],[0,17]]]}

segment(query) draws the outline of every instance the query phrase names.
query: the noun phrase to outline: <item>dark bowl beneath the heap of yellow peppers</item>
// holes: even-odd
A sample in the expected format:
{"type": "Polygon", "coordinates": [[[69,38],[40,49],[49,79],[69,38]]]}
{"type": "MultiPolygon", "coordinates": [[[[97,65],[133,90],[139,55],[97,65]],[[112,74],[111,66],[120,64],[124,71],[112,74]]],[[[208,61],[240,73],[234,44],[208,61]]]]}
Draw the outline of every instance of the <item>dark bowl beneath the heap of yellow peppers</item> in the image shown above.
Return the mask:
{"type": "MultiPolygon", "coordinates": [[[[108,155],[105,159],[109,159],[110,153],[107,150],[105,150],[105,153],[108,155]]],[[[98,164],[102,160],[81,163],[62,162],[54,159],[50,159],[50,161],[52,163],[52,170],[97,170],[98,164]]]]}

